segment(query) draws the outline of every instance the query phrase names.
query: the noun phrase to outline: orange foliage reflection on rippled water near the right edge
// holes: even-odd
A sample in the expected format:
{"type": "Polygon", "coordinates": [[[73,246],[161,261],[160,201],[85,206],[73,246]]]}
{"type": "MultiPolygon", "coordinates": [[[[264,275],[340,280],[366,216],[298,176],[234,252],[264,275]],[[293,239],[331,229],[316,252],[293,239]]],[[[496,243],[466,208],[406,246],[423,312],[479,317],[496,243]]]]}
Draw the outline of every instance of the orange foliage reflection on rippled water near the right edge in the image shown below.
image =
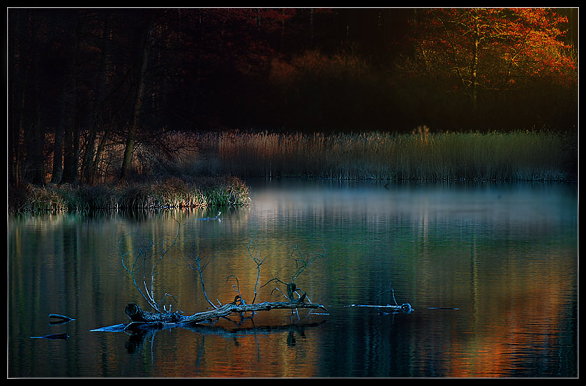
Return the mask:
{"type": "Polygon", "coordinates": [[[504,274],[502,285],[493,285],[486,292],[490,293],[488,300],[478,304],[465,339],[454,339],[453,349],[446,352],[446,376],[518,376],[515,371],[520,364],[525,369],[539,366],[527,362],[528,358],[534,358],[536,351],[551,346],[552,339],[562,334],[559,308],[567,302],[569,286],[562,280],[567,277],[562,269],[548,265],[527,267],[527,272],[539,272],[532,276],[511,278],[504,274]],[[552,267],[560,272],[551,272],[552,267]]]}

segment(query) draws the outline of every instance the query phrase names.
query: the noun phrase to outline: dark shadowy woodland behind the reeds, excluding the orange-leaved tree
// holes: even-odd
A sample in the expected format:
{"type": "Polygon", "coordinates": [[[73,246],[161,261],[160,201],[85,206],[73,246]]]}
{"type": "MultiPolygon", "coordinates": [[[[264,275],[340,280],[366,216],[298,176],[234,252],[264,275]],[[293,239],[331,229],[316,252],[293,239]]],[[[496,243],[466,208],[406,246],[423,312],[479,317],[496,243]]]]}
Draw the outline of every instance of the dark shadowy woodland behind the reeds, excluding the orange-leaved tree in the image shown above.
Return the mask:
{"type": "MultiPolygon", "coordinates": [[[[565,38],[578,47],[577,10],[557,11],[569,17],[565,38]]],[[[165,130],[405,133],[423,124],[433,131],[576,131],[577,84],[543,80],[516,94],[481,94],[472,114],[445,84],[405,77],[398,64],[405,68],[413,50],[414,13],[8,8],[9,161],[43,162],[54,151],[47,142],[62,143],[61,181],[77,179],[67,166],[80,162],[81,178],[91,182],[96,155],[77,148],[80,139],[88,149],[103,138],[123,143],[135,124],[142,141],[165,130]]]]}

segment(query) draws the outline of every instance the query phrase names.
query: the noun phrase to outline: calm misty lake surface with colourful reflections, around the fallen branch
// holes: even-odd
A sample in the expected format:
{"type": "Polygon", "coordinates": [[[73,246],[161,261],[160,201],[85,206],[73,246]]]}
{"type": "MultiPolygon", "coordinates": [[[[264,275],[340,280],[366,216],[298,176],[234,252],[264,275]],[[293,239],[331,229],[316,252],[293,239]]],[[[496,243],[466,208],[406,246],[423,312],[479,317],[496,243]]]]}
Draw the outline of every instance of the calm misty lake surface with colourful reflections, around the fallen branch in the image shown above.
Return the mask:
{"type": "Polygon", "coordinates": [[[577,377],[575,184],[250,184],[252,205],[221,221],[198,220],[216,210],[10,216],[8,376],[577,377]],[[163,256],[155,297],[190,315],[209,307],[195,256],[225,304],[236,285],[252,302],[251,255],[257,302],[278,301],[278,283],[260,285],[324,251],[296,283],[328,313],[91,332],[126,322],[129,302],[147,309],[123,259],[137,258],[142,283],[142,263],[163,256]],[[348,307],[393,293],[414,311],[348,307]],[[75,321],[51,325],[50,313],[75,321]]]}

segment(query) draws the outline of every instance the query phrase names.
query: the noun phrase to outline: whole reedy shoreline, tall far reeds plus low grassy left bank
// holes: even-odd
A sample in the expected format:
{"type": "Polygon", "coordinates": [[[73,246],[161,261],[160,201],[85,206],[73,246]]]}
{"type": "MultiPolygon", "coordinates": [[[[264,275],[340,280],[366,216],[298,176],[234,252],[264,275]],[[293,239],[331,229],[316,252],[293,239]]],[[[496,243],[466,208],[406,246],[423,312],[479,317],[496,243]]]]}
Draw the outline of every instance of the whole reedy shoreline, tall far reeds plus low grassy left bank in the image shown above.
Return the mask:
{"type": "Polygon", "coordinates": [[[547,131],[430,133],[420,126],[404,135],[230,131],[170,139],[195,151],[125,183],[8,186],[8,212],[245,207],[250,196],[244,181],[258,178],[578,181],[575,138],[547,131]]]}

